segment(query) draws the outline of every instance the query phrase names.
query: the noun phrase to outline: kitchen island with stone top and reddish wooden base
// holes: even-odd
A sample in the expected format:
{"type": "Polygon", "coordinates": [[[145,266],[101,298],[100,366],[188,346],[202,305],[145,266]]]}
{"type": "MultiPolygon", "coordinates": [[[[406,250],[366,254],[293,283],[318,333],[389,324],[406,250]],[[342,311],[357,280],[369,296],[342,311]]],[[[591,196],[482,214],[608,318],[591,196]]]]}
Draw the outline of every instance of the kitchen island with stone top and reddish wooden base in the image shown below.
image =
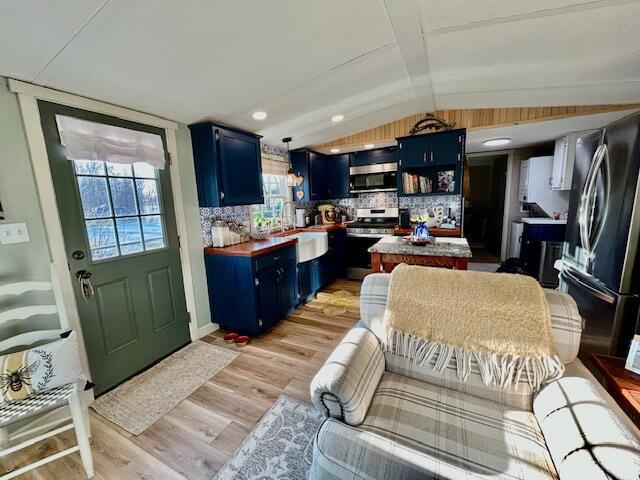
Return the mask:
{"type": "Polygon", "coordinates": [[[372,245],[372,272],[390,272],[400,263],[466,270],[471,249],[466,238],[435,238],[434,243],[414,246],[408,237],[383,237],[372,245]]]}

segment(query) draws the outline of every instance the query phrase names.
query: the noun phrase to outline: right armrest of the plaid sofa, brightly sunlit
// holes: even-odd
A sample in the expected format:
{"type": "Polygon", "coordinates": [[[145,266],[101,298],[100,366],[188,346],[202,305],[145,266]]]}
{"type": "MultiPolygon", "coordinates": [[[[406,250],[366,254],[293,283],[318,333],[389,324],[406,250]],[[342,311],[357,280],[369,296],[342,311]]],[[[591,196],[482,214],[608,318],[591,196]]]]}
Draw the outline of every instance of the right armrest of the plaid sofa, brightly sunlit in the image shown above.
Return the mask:
{"type": "Polygon", "coordinates": [[[640,478],[635,428],[612,400],[579,360],[536,395],[534,414],[561,480],[640,478]]]}

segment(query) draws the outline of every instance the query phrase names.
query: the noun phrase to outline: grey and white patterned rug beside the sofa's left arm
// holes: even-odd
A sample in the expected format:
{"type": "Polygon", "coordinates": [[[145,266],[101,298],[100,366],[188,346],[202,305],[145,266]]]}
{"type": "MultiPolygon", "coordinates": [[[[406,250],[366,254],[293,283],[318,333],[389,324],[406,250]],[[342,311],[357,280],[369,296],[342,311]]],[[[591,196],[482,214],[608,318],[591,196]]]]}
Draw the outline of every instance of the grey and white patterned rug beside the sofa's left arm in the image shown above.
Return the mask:
{"type": "Polygon", "coordinates": [[[214,480],[306,479],[324,415],[281,395],[214,480]]]}

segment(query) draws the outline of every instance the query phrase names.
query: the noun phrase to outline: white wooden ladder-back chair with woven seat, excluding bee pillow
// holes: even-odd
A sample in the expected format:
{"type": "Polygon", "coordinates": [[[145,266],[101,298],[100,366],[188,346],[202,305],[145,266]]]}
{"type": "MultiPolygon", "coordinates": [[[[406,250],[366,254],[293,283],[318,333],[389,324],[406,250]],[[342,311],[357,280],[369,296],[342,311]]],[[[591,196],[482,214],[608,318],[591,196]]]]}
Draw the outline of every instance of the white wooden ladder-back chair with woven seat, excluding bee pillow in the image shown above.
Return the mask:
{"type": "MultiPolygon", "coordinates": [[[[0,327],[9,323],[23,322],[35,315],[58,313],[62,329],[36,330],[20,333],[0,341],[0,354],[29,348],[37,342],[56,340],[60,334],[68,331],[64,328],[66,316],[63,311],[59,286],[52,268],[51,282],[16,282],[0,285],[0,303],[8,296],[18,296],[27,292],[52,290],[55,305],[28,305],[13,307],[0,312],[0,327]],[[21,347],[21,348],[19,348],[21,347]]],[[[91,435],[87,406],[82,401],[82,389],[86,380],[78,379],[75,383],[63,385],[47,392],[31,395],[20,402],[0,405],[0,459],[30,445],[34,445],[49,437],[59,435],[67,430],[75,429],[77,445],[56,452],[36,462],[11,470],[0,476],[0,480],[17,477],[49,462],[74,452],[80,452],[82,465],[88,478],[93,477],[93,458],[89,437],[91,435]],[[67,414],[60,407],[69,407],[67,414]],[[64,415],[54,416],[55,413],[64,415]],[[49,418],[51,417],[51,418],[49,418]],[[10,428],[19,425],[19,428],[10,428]]],[[[6,464],[6,462],[4,462],[6,464]]]]}

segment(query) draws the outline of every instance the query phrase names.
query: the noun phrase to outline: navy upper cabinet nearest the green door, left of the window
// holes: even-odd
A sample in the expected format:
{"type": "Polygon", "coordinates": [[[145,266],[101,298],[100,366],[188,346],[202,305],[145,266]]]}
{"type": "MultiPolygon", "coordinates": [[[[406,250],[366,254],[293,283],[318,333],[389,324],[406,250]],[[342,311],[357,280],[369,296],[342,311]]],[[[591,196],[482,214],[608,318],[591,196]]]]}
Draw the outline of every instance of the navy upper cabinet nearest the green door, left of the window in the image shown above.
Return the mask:
{"type": "Polygon", "coordinates": [[[260,137],[211,122],[189,128],[200,206],[263,203],[260,137]]]}

